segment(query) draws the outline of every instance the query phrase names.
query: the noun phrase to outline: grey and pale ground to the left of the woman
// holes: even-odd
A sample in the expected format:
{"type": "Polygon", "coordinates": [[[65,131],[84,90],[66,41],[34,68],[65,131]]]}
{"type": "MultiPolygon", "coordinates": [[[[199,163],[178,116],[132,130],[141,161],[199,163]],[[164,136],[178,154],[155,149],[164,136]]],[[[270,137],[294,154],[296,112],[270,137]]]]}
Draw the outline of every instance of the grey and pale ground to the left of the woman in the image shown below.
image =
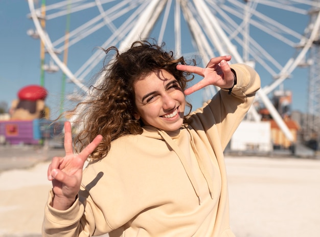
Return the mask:
{"type": "Polygon", "coordinates": [[[52,157],[63,154],[62,148],[0,145],[0,220],[11,226],[11,230],[0,228],[0,236],[41,236],[43,200],[50,187],[45,167],[52,157]]]}

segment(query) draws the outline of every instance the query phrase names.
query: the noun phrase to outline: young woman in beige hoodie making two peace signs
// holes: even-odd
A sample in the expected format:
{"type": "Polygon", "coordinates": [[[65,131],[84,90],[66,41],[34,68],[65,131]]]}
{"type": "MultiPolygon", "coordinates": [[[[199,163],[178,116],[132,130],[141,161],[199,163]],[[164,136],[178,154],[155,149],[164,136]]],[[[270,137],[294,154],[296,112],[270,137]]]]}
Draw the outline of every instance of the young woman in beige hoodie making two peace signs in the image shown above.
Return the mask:
{"type": "Polygon", "coordinates": [[[260,88],[258,74],[229,66],[231,56],[187,66],[146,41],[111,51],[103,83],[81,106],[80,153],[66,122],[65,157],[49,166],[43,236],[234,236],[223,150],[260,88]],[[191,73],[203,79],[186,89],[191,73]],[[207,85],[221,90],[188,115],[185,95],[207,85]]]}

